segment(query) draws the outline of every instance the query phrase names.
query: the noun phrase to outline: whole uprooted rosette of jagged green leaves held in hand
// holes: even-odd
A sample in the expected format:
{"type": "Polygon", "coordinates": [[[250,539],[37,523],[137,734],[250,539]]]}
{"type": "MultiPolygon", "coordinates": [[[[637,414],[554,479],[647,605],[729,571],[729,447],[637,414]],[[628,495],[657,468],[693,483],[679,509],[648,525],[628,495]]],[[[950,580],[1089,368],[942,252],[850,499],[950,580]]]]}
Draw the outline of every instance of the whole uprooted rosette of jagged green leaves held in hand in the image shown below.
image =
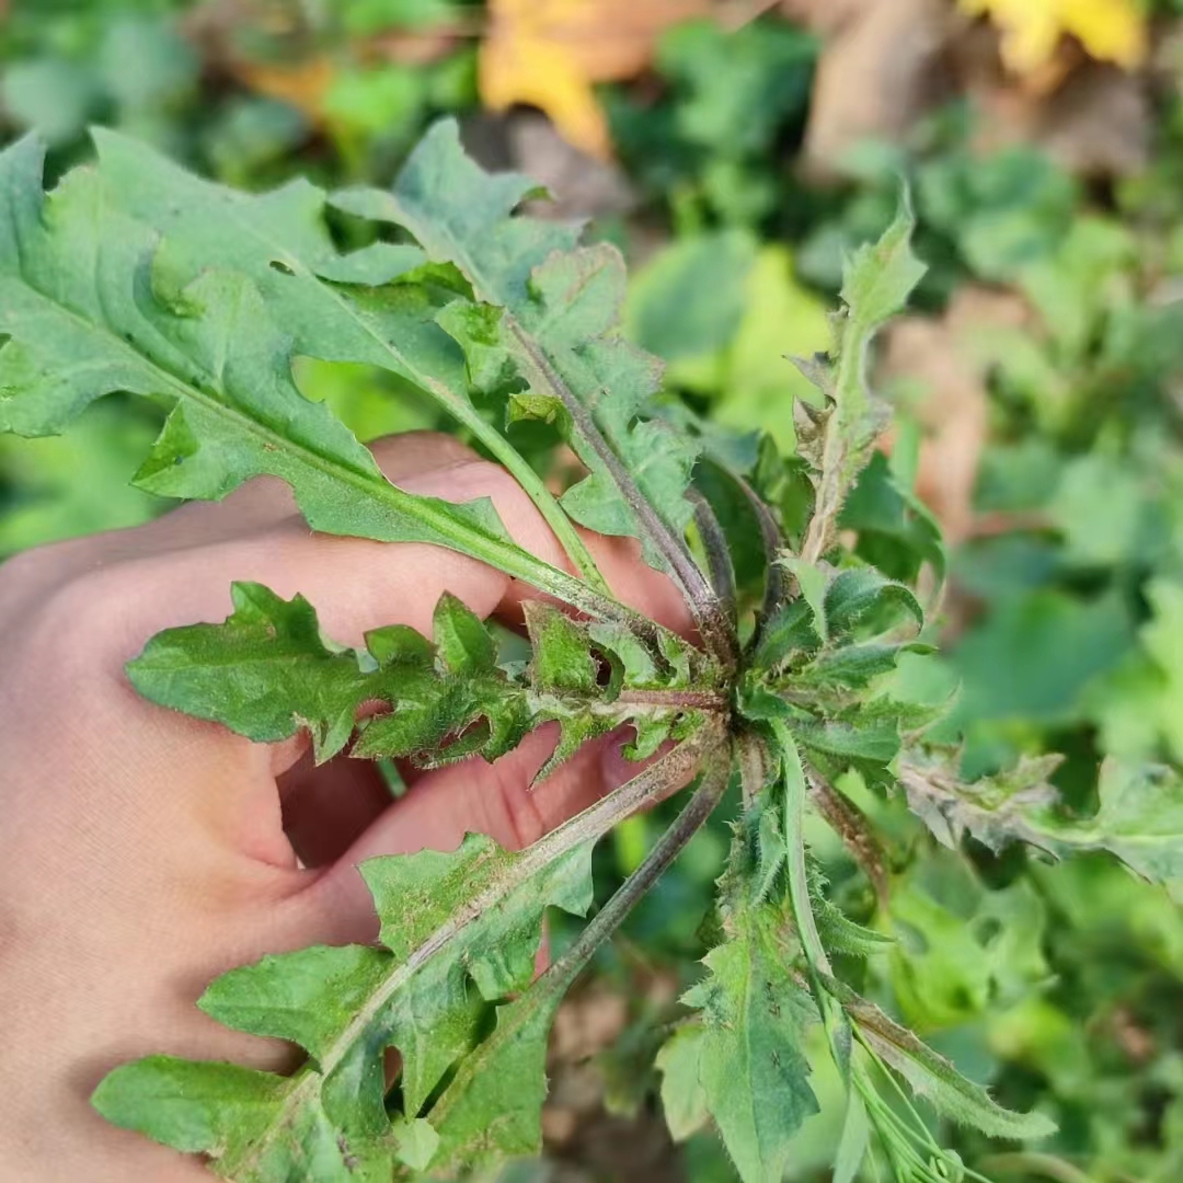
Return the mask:
{"type": "Polygon", "coordinates": [[[877,884],[886,877],[870,822],[835,788],[854,771],[884,791],[903,781],[946,842],[968,832],[1056,855],[1104,847],[1146,877],[1183,878],[1177,781],[1143,777],[1132,807],[1110,784],[1098,817],[1073,821],[1046,786],[961,784],[925,748],[932,712],[892,690],[900,659],[925,649],[924,609],[880,567],[940,567],[932,523],[875,452],[885,409],[867,384],[874,332],[923,272],[906,205],[848,260],[834,348],[803,363],[819,389],[796,408],[799,454],[781,458],[662,402],[659,362],[618,329],[616,252],[522,214],[536,187],[481,173],[452,123],[428,134],[392,190],[331,198],[302,181],[237,193],[110,132],[97,146],[97,163],[49,194],[35,140],[0,155],[0,427],[59,432],[117,390],[162,400],[169,418],[140,487],[216,499],[276,476],[313,529],[451,548],[539,593],[525,612],[529,659],[503,662],[452,597],[431,638],[395,626],[354,649],[325,636],[299,596],[238,584],[225,623],[149,642],[128,670],[136,689],[258,742],[306,730],[319,759],[496,759],[557,722],[539,793],[555,764],[619,728],[633,730],[639,762],[632,781],[524,851],[471,835],[453,852],[364,864],[376,944],[269,957],[213,982],[205,1011],[306,1053],[290,1075],[150,1056],[114,1068],[99,1112],[243,1183],[454,1174],[536,1151],[564,991],[738,782],[718,940],[659,1058],[675,1132],[712,1121],[743,1179],[781,1178],[816,1108],[806,1032],[820,1024],[849,1097],[840,1183],[867,1163],[901,1181],[962,1177],[910,1092],[991,1137],[1047,1134],[1043,1116],[1001,1107],[841,981],[834,953],[868,956],[885,938],[827,897],[806,848],[816,809],[877,884]],[[330,206],[371,220],[373,244],[342,254],[330,206]],[[300,395],[295,354],[382,367],[438,400],[517,478],[569,569],[517,547],[489,503],[386,480],[300,395]],[[528,463],[511,442],[521,420],[549,425],[580,474],[556,484],[528,463]],[[794,489],[803,516],[787,510],[794,489]],[[685,597],[692,636],[622,606],[576,526],[636,538],[685,597]],[[735,577],[750,573],[752,536],[755,584],[735,577]],[[901,548],[890,563],[885,541],[901,548]],[[691,780],[645,861],[536,977],[544,911],[590,909],[595,841],[691,780]]]}

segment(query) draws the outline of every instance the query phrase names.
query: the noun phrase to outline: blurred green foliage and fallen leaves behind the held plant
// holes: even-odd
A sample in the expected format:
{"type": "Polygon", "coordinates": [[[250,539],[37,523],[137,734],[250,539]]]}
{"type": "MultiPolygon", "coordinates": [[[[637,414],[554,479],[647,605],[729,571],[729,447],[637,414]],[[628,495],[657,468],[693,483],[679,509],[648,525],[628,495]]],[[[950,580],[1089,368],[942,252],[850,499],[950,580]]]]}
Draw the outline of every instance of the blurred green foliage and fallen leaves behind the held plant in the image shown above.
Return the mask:
{"type": "MultiPolygon", "coordinates": [[[[827,347],[843,253],[906,176],[931,270],[875,361],[881,464],[952,556],[946,655],[905,690],[955,696],[970,774],[1066,754],[1082,812],[1106,755],[1183,762],[1181,0],[0,0],[0,136],[40,131],[54,175],[103,123],[234,186],[386,182],[444,112],[621,246],[627,330],[672,392],[786,450],[808,395],[783,355],[827,347]]],[[[364,439],[442,426],[390,375],[298,379],[364,439]]],[[[111,399],[0,439],[0,556],[167,509],[128,484],[157,426],[111,399]]],[[[937,851],[843,788],[893,874],[877,899],[819,827],[832,891],[910,953],[864,993],[1061,1126],[1004,1153],[943,1137],[1000,1179],[1183,1178],[1178,906],[1100,859],[937,851]]],[[[606,892],[659,823],[600,852],[606,892]]],[[[671,1146],[641,1034],[677,1014],[725,846],[699,836],[564,1008],[550,1152],[506,1183],[733,1178],[709,1134],[671,1146]]],[[[816,1088],[793,1179],[828,1177],[839,1085],[816,1088]]]]}

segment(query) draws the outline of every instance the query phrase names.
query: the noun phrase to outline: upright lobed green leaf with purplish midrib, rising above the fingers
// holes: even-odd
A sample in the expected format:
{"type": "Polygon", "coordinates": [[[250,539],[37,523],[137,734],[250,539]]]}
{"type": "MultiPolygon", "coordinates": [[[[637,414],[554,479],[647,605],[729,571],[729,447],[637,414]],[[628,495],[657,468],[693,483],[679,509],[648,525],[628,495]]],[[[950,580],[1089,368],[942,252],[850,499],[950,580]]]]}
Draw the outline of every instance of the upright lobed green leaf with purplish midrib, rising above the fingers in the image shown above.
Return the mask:
{"type": "Polygon", "coordinates": [[[444,121],[392,193],[347,190],[334,201],[403,226],[433,259],[455,264],[478,299],[500,310],[480,318],[450,313],[441,323],[473,375],[516,371],[530,389],[516,413],[556,422],[590,470],[564,494],[567,511],[589,529],[642,538],[651,562],[670,567],[657,526],[684,531],[694,451],[667,424],[638,420],[660,367],[619,335],[620,254],[606,244],[578,247],[577,231],[562,222],[517,215],[537,192],[525,177],[481,172],[464,154],[455,123],[444,121]]]}

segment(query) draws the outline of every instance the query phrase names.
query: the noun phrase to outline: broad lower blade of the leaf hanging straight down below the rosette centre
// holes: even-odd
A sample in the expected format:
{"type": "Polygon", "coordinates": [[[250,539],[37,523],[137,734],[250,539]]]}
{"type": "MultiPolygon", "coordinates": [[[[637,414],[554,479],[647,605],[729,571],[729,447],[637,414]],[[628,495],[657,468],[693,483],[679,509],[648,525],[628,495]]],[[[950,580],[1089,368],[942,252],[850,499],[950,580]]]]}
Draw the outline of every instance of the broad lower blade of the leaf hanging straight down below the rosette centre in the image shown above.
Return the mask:
{"type": "Polygon", "coordinates": [[[817,1111],[802,1051],[815,1010],[789,972],[777,914],[735,916],[730,938],[706,955],[707,977],[684,998],[703,1011],[698,1081],[744,1183],[780,1183],[793,1136],[817,1111]]]}

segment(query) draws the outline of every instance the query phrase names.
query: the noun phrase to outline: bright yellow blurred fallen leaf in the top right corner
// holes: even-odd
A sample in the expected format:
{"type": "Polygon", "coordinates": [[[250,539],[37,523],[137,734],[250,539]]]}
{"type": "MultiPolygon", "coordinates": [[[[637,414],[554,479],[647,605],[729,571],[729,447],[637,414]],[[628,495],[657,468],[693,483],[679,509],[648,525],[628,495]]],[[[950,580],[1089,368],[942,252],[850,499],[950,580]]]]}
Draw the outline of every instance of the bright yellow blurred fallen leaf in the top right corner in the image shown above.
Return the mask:
{"type": "Polygon", "coordinates": [[[989,14],[1002,30],[1002,57],[1030,75],[1055,56],[1065,34],[1094,58],[1127,70],[1146,58],[1146,19],[1138,0],[961,0],[971,15],[989,14]]]}

